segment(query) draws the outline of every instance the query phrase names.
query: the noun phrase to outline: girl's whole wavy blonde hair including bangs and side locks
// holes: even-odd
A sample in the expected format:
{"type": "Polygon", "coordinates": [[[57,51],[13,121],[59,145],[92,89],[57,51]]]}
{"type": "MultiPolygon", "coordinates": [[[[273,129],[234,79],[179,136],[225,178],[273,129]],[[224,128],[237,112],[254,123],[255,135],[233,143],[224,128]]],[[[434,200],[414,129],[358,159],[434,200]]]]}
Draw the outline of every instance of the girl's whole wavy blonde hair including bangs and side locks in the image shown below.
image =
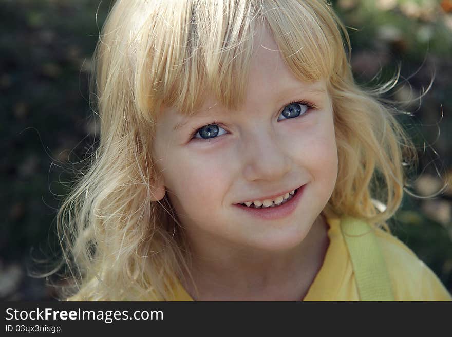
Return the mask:
{"type": "Polygon", "coordinates": [[[347,30],[330,5],[118,0],[93,58],[100,144],[57,217],[70,299],[174,298],[175,280],[190,274],[190,251],[167,196],[151,201],[159,176],[151,151],[156,120],[162,106],[195,114],[208,89],[225,106],[240,105],[259,24],[297,79],[327,80],[338,177],[324,215],[384,226],[399,208],[403,165],[416,162],[415,148],[379,99],[389,88],[355,84],[347,30]]]}

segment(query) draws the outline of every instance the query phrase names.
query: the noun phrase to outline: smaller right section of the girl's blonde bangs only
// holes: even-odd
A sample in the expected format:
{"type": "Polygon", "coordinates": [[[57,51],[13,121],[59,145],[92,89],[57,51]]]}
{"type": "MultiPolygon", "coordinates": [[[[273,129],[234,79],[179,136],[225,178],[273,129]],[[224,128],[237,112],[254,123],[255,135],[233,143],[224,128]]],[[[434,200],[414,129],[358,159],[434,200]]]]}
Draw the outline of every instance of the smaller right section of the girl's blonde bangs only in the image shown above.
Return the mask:
{"type": "Polygon", "coordinates": [[[326,3],[275,0],[265,4],[263,15],[298,80],[328,80],[342,68],[345,53],[338,20],[326,3]]]}

